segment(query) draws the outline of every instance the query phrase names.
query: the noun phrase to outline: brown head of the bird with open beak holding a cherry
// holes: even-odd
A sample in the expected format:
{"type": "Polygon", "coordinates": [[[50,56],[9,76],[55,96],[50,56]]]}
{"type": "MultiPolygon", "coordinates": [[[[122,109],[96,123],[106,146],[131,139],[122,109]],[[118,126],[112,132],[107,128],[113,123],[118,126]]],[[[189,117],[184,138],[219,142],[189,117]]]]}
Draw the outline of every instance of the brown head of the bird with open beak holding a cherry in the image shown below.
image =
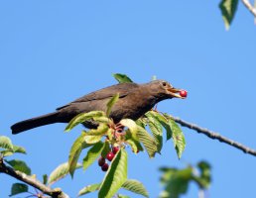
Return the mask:
{"type": "Polygon", "coordinates": [[[168,99],[168,98],[182,98],[180,95],[181,89],[177,89],[173,87],[169,82],[166,80],[153,80],[148,83],[150,86],[150,90],[157,96],[160,100],[168,99]]]}

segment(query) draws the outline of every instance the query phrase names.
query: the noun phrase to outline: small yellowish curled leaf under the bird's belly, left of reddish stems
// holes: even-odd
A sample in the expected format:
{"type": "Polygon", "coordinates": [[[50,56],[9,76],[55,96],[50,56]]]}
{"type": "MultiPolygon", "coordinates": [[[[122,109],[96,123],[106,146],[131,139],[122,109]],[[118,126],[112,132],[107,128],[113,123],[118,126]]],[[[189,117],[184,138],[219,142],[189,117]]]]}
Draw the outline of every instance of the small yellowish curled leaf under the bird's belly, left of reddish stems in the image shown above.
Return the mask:
{"type": "Polygon", "coordinates": [[[86,144],[98,143],[102,136],[107,134],[108,129],[106,124],[100,124],[97,129],[90,130],[84,135],[84,142],[86,144]]]}

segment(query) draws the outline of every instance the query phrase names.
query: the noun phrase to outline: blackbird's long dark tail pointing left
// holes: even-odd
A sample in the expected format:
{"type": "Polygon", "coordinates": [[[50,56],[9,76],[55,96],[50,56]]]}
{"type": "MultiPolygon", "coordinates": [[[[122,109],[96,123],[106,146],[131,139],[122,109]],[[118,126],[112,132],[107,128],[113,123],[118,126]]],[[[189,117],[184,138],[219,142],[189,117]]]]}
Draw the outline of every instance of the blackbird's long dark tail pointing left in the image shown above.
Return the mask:
{"type": "Polygon", "coordinates": [[[58,114],[59,112],[54,112],[16,123],[11,127],[12,134],[19,134],[21,132],[31,130],[36,127],[57,123],[58,114]]]}

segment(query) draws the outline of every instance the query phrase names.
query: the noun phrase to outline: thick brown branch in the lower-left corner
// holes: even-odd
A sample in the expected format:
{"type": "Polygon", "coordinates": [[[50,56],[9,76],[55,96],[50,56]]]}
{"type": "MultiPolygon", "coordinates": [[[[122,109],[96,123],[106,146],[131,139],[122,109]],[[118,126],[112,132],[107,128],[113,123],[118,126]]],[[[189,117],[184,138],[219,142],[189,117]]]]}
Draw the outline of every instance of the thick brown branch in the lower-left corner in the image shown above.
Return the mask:
{"type": "Polygon", "coordinates": [[[61,188],[52,189],[49,186],[41,183],[41,181],[37,180],[36,178],[31,177],[18,170],[14,170],[10,166],[7,166],[4,163],[3,157],[0,156],[0,173],[1,172],[35,187],[53,198],[69,198],[66,194],[64,194],[61,188]]]}

